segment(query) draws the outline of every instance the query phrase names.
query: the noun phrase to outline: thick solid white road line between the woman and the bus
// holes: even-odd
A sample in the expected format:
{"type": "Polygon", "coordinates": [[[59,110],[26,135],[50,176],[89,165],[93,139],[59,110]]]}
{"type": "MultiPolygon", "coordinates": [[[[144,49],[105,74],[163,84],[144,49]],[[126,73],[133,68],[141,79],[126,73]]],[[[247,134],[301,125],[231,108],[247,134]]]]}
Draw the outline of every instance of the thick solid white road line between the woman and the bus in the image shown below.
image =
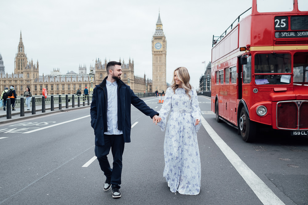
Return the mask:
{"type": "Polygon", "coordinates": [[[233,167],[237,170],[237,172],[241,175],[241,177],[245,180],[263,204],[285,204],[245,164],[245,162],[241,160],[241,158],[225,143],[225,141],[221,139],[221,137],[214,131],[203,116],[201,116],[201,123],[221,152],[226,156],[226,158],[230,161],[233,167]]]}

